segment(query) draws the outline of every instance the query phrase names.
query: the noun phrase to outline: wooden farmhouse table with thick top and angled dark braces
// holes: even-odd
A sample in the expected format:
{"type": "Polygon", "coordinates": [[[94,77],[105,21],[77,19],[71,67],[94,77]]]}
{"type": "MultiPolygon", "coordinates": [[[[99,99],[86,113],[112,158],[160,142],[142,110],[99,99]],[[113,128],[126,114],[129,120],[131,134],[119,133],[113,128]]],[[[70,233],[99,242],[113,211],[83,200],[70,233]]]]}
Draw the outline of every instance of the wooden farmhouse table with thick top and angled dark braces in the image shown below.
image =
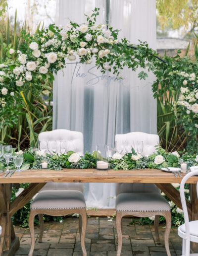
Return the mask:
{"type": "MultiPolygon", "coordinates": [[[[184,173],[181,173],[185,176],[184,173]]],[[[161,170],[108,170],[107,175],[96,172],[95,169],[64,169],[54,170],[27,170],[16,172],[10,178],[3,178],[0,173],[0,225],[2,234],[0,239],[0,256],[11,256],[19,248],[19,239],[15,237],[11,216],[22,208],[48,182],[81,182],[81,183],[154,183],[179,208],[182,209],[180,194],[171,185],[180,183],[181,177],[161,170]],[[30,183],[12,202],[10,202],[12,184],[30,183]]],[[[196,183],[198,176],[188,180],[190,184],[191,203],[187,207],[191,220],[198,220],[198,199],[196,183]]]]}

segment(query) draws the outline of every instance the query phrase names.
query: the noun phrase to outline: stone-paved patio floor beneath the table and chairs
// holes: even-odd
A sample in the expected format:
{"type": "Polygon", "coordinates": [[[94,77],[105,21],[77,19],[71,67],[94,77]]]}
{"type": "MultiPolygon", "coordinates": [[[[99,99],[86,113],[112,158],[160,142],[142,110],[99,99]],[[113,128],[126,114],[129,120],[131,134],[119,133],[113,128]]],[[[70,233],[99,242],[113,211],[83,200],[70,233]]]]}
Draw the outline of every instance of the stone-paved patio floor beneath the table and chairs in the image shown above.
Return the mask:
{"type": "MultiPolygon", "coordinates": [[[[161,244],[155,243],[153,225],[129,225],[130,217],[123,218],[122,256],[166,256],[163,234],[164,225],[159,226],[161,244]]],[[[38,243],[39,226],[35,226],[36,245],[34,256],[81,256],[80,237],[78,233],[78,218],[65,217],[62,223],[44,223],[43,243],[38,243]]],[[[20,248],[15,255],[28,255],[30,249],[30,232],[28,229],[15,226],[16,235],[20,238],[20,248]]],[[[88,218],[86,231],[86,249],[88,256],[116,256],[115,219],[108,221],[107,217],[88,218]]],[[[171,256],[182,255],[182,239],[177,235],[177,229],[170,233],[171,256]]]]}

